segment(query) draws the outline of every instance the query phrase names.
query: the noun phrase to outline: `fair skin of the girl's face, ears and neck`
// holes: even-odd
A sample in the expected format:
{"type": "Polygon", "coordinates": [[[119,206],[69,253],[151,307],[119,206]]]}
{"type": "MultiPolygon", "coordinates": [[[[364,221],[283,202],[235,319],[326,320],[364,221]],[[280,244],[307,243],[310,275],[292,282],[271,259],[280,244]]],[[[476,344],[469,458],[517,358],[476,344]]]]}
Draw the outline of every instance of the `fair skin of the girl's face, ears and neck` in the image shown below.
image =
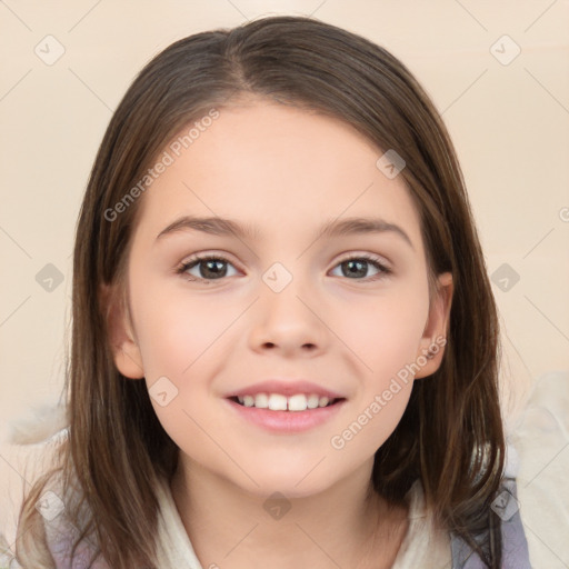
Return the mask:
{"type": "MultiPolygon", "coordinates": [[[[401,419],[413,378],[343,448],[330,440],[447,336],[452,282],[440,276],[429,302],[418,212],[402,176],[377,168],[381,154],[340,120],[253,100],[221,108],[141,198],[130,319],[114,312],[110,322],[114,361],[149,389],[164,376],[178,389],[163,407],[151,401],[180,448],[172,496],[203,568],[378,569],[397,556],[407,510],[387,511],[367,492],[375,452],[401,419]],[[230,218],[258,234],[193,229],[157,239],[184,214],[230,218]],[[348,217],[397,224],[411,244],[396,231],[317,239],[322,223],[348,217]],[[176,273],[198,252],[228,260],[218,261],[221,278],[207,262],[176,273]],[[392,272],[363,261],[350,276],[343,261],[361,254],[392,272]],[[276,262],[292,276],[280,292],[262,279],[276,262]],[[333,389],[343,405],[297,433],[230,412],[227,393],[274,377],[333,389]],[[276,491],[291,506],[280,519],[263,508],[276,491]]],[[[415,380],[432,375],[442,353],[415,380]]]]}

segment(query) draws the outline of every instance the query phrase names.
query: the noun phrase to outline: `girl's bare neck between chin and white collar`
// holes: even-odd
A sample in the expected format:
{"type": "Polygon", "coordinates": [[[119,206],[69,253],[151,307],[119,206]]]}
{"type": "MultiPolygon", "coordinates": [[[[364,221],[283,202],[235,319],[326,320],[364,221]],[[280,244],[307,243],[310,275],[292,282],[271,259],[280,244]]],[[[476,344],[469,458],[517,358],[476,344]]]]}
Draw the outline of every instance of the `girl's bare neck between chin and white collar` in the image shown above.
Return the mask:
{"type": "Polygon", "coordinates": [[[371,489],[371,467],[319,493],[279,500],[180,460],[171,489],[203,568],[377,569],[391,567],[407,510],[388,510],[371,489]]]}

